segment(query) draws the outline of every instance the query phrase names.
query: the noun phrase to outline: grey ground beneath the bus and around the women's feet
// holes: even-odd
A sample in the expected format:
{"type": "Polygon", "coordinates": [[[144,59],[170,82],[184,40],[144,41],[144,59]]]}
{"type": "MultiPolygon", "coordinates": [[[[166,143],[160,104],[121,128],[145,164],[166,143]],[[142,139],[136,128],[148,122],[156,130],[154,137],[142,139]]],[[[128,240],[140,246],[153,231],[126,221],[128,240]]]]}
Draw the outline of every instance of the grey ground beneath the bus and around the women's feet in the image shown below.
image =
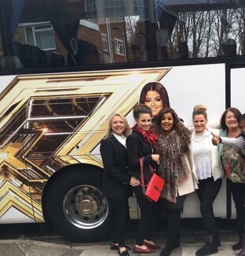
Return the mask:
{"type": "MultiPolygon", "coordinates": [[[[198,222],[199,223],[199,222],[198,222]]],[[[205,232],[199,228],[199,224],[191,222],[188,227],[181,228],[181,247],[175,249],[171,256],[194,256],[196,250],[203,246],[205,232]],[[188,230],[185,230],[188,229],[188,230]]],[[[236,230],[232,229],[234,222],[225,224],[225,228],[220,229],[221,247],[218,254],[222,256],[236,255],[240,250],[232,250],[232,245],[236,243],[238,237],[236,230]]],[[[133,249],[135,240],[135,227],[126,235],[126,244],[133,249]]],[[[28,225],[0,225],[0,256],[112,256],[118,255],[116,250],[110,250],[109,241],[100,243],[74,243],[57,234],[52,229],[43,228],[38,224],[28,225]],[[26,228],[27,227],[27,228],[26,228]]],[[[154,234],[155,243],[164,247],[166,232],[158,230],[154,234]]],[[[159,255],[157,250],[152,256],[159,255]]],[[[134,254],[130,250],[130,255],[134,254]]]]}

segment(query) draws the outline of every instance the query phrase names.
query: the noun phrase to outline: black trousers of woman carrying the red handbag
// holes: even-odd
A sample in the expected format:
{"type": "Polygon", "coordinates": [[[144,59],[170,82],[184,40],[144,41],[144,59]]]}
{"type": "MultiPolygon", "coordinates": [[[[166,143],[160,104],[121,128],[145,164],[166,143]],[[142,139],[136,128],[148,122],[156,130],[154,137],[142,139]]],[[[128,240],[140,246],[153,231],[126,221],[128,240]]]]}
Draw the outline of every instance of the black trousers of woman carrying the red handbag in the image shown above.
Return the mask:
{"type": "Polygon", "coordinates": [[[133,187],[133,192],[141,210],[141,218],[137,224],[136,239],[136,244],[141,246],[144,244],[144,239],[152,240],[152,233],[155,231],[160,217],[159,203],[150,202],[145,198],[141,186],[133,187]]]}

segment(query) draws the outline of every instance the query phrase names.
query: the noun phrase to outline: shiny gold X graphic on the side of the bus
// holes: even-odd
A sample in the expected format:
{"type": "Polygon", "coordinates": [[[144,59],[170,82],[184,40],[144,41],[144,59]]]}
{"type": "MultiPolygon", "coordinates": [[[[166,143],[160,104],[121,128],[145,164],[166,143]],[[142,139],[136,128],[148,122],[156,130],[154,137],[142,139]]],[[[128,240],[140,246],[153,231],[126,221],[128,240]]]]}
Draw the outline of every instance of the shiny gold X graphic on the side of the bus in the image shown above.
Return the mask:
{"type": "Polygon", "coordinates": [[[102,169],[96,149],[108,119],[130,113],[144,83],[169,70],[16,76],[1,93],[1,216],[14,208],[25,221],[44,221],[41,199],[49,177],[73,165],[102,169]]]}

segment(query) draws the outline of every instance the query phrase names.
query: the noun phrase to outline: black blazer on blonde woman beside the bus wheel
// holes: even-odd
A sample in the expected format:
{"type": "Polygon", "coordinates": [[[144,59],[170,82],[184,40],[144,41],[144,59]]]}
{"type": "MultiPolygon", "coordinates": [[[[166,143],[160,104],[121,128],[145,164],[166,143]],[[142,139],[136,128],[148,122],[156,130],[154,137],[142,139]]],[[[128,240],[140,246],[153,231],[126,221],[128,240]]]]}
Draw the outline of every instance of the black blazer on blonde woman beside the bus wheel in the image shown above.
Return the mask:
{"type": "Polygon", "coordinates": [[[112,135],[101,142],[100,150],[104,165],[104,195],[115,199],[129,198],[132,190],[131,177],[127,174],[126,147],[112,135]]]}

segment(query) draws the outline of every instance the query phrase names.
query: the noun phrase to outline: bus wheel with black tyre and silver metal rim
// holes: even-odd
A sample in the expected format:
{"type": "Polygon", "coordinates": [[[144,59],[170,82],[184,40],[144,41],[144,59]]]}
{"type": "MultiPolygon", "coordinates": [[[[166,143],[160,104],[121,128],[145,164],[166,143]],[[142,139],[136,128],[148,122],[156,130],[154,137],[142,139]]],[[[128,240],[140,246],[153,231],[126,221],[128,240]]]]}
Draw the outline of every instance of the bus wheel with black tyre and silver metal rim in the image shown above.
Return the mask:
{"type": "Polygon", "coordinates": [[[108,202],[101,169],[71,169],[50,187],[47,211],[57,231],[76,241],[108,239],[108,202]]]}

